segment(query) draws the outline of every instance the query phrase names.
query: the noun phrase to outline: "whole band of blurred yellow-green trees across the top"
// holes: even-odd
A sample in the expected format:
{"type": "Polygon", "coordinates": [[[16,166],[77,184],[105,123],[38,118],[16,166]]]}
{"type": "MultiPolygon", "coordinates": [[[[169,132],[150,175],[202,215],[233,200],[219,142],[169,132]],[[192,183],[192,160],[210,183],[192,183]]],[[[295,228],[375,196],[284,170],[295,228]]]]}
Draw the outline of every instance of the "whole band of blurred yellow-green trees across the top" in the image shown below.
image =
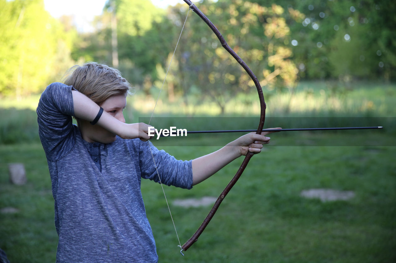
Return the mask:
{"type": "MultiPolygon", "coordinates": [[[[162,85],[188,6],[164,10],[146,0],[114,3],[118,68],[151,96],[162,85]]],[[[268,90],[292,89],[298,77],[394,79],[393,2],[205,0],[198,7],[268,90]]],[[[0,0],[0,96],[40,92],[76,63],[111,64],[112,11],[107,6],[95,19],[94,32],[77,34],[70,17],[53,19],[42,0],[0,0]]],[[[253,86],[193,13],[173,64],[164,90],[169,100],[181,96],[186,105],[188,96],[204,94],[224,111],[232,97],[253,86]]]]}

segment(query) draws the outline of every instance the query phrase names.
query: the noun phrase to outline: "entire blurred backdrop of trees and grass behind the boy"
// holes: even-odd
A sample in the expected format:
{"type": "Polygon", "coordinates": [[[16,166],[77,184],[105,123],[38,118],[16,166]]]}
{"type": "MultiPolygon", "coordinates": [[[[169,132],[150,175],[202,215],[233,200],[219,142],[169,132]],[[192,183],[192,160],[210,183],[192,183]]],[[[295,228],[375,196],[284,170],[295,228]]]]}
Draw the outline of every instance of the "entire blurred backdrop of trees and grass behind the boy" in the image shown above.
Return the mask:
{"type": "MultiPolygon", "coordinates": [[[[97,1],[101,12],[87,29],[77,15],[53,15],[47,1],[0,0],[0,248],[11,263],[55,261],[51,181],[35,113],[40,93],[74,64],[104,62],[136,89],[128,97],[126,121],[147,120],[188,9],[180,1],[161,7],[158,2],[97,1]],[[8,164],[15,162],[27,170],[23,186],[8,180],[8,164]]],[[[267,102],[265,128],[385,128],[271,134],[270,145],[252,158],[185,257],[160,186],[143,181],[159,262],[395,262],[396,4],[204,0],[196,5],[256,73],[267,102]],[[318,188],[352,191],[354,197],[322,202],[301,196],[318,188]]],[[[175,121],[191,130],[254,129],[260,110],[256,93],[190,12],[152,121],[161,128],[175,121]]],[[[153,143],[190,160],[238,136],[153,143]]],[[[240,162],[190,191],[165,188],[182,244],[210,205],[183,208],[175,201],[217,198],[240,162]]]]}

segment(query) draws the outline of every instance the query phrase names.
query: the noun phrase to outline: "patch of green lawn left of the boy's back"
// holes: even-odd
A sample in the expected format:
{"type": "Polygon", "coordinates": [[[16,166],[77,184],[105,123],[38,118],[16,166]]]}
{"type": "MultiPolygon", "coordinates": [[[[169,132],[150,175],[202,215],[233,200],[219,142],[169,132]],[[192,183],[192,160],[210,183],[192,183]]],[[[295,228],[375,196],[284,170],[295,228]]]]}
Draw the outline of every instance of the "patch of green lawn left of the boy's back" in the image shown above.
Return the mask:
{"type": "Polygon", "coordinates": [[[19,210],[0,213],[0,248],[11,262],[54,262],[58,237],[51,180],[41,145],[4,145],[0,160],[0,209],[19,210]],[[8,163],[14,162],[25,165],[28,182],[23,186],[8,181],[8,163]]]}

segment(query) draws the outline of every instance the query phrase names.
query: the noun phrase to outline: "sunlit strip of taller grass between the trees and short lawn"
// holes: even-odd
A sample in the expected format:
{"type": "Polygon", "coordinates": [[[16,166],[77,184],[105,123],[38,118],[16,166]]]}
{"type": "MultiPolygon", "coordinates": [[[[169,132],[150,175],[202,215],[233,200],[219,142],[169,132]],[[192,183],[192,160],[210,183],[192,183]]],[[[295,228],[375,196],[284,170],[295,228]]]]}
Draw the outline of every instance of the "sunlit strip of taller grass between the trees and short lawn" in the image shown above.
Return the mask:
{"type": "MultiPolygon", "coordinates": [[[[395,135],[396,85],[379,82],[356,82],[353,85],[354,88],[350,88],[343,95],[331,94],[327,89],[328,84],[317,81],[299,83],[293,94],[265,92],[265,128],[384,126],[384,130],[375,133],[395,135]]],[[[219,112],[220,109],[215,103],[202,101],[196,96],[188,97],[191,106],[183,105],[182,99],[172,103],[162,99],[156,107],[152,125],[166,128],[171,125],[168,122],[174,120],[188,130],[254,129],[257,126],[255,118],[260,113],[256,97],[254,91],[238,94],[229,101],[224,114],[219,112]]],[[[34,95],[22,101],[13,98],[0,100],[0,143],[29,143],[39,140],[35,113],[39,98],[40,96],[34,95]]],[[[148,122],[155,100],[156,98],[147,98],[141,94],[129,96],[127,108],[124,110],[126,121],[148,122]]],[[[356,134],[356,131],[353,133],[356,134]]],[[[222,136],[229,138],[227,134],[222,136]]]]}

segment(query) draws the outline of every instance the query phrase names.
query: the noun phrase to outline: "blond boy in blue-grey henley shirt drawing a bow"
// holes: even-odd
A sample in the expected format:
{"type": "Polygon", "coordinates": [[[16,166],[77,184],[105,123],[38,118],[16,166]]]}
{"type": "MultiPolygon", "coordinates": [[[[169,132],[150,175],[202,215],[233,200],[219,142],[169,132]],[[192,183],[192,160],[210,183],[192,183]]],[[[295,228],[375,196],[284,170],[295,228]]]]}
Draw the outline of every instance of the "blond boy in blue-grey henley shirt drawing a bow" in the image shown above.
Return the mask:
{"type": "Polygon", "coordinates": [[[247,151],[260,152],[269,132],[176,160],[147,142],[147,124],[125,123],[131,87],[118,70],[94,62],[72,69],[65,84],[46,88],[37,107],[55,200],[57,262],[157,262],[141,178],[159,182],[157,167],[163,184],[190,189],[247,151]]]}

